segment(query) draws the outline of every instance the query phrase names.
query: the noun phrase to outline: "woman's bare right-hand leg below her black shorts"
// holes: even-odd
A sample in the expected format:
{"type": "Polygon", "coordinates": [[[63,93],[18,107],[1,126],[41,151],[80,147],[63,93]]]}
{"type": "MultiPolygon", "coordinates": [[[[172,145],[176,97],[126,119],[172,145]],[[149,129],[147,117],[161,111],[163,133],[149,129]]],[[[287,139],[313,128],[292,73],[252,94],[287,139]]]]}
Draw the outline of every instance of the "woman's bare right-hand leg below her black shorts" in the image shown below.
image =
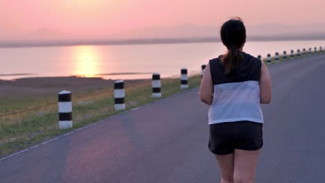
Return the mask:
{"type": "Polygon", "coordinates": [[[253,183],[260,150],[235,149],[233,179],[235,183],[253,183]]]}

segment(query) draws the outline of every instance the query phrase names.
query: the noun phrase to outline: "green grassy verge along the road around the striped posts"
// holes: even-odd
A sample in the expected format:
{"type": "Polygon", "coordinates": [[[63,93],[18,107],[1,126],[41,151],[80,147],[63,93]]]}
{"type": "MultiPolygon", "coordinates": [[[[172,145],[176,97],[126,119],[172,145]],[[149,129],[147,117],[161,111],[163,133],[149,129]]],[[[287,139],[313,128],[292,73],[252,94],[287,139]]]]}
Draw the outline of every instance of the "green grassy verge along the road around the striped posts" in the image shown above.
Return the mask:
{"type": "MultiPolygon", "coordinates": [[[[164,98],[182,90],[179,78],[163,78],[161,81],[164,98]]],[[[136,85],[128,85],[127,82],[125,87],[126,110],[158,100],[151,97],[151,80],[136,85]]],[[[197,87],[200,82],[201,75],[191,76],[189,87],[197,87]]],[[[58,129],[57,96],[26,98],[20,102],[11,101],[11,103],[7,101],[6,107],[0,110],[0,116],[22,108],[49,106],[41,107],[37,111],[32,110],[0,118],[0,157],[120,113],[115,112],[114,109],[113,89],[87,92],[87,95],[84,93],[72,95],[74,128],[68,130],[58,129]],[[18,108],[17,105],[19,105],[18,108]]]]}

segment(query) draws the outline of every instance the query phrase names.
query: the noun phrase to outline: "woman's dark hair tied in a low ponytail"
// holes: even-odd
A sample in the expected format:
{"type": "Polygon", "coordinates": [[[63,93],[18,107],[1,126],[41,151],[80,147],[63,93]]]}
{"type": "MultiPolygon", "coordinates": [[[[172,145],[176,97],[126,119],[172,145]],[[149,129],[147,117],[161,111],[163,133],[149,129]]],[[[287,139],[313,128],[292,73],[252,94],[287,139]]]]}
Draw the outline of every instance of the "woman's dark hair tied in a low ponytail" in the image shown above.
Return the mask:
{"type": "Polygon", "coordinates": [[[226,21],[220,30],[222,43],[227,47],[228,53],[222,57],[224,74],[228,75],[238,62],[244,59],[239,49],[246,42],[246,28],[239,17],[226,21]]]}

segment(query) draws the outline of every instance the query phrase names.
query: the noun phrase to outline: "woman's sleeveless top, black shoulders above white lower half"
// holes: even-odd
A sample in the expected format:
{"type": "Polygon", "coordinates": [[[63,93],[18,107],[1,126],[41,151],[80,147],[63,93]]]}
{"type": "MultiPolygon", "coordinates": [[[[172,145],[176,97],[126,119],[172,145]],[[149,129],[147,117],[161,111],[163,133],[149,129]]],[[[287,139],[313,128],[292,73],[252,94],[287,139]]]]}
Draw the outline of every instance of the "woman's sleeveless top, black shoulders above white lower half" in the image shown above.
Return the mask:
{"type": "Polygon", "coordinates": [[[243,60],[225,75],[222,56],[210,60],[213,81],[213,103],[209,110],[209,124],[253,121],[263,123],[260,110],[260,59],[242,52],[243,60]]]}

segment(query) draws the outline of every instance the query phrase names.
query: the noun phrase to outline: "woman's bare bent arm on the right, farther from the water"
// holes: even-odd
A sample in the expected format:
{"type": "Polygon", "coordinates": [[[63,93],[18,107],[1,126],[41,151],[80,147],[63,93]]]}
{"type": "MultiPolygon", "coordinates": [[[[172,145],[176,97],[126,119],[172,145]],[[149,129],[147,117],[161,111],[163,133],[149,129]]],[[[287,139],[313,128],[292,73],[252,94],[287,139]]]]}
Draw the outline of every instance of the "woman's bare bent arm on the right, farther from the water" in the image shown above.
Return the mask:
{"type": "Polygon", "coordinates": [[[269,69],[265,62],[262,62],[260,69],[260,103],[270,103],[272,100],[272,84],[269,76],[269,69]]]}

